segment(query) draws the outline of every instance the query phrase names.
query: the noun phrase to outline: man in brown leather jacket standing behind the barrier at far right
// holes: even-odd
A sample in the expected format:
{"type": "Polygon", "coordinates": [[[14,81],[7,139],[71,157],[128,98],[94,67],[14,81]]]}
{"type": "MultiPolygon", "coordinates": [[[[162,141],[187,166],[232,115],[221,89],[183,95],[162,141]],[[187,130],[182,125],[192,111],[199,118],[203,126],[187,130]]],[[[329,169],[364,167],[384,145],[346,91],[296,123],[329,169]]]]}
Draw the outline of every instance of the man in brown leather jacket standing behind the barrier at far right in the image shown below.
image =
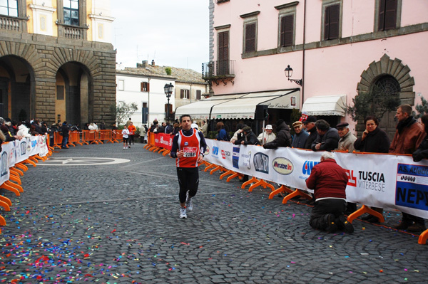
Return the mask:
{"type": "MultiPolygon", "coordinates": [[[[412,116],[412,106],[400,105],[395,113],[398,124],[394,139],[389,146],[389,153],[393,154],[413,154],[424,140],[424,127],[412,116]]],[[[399,230],[412,232],[424,231],[425,221],[421,217],[402,212],[402,221],[397,226],[399,230]]]]}

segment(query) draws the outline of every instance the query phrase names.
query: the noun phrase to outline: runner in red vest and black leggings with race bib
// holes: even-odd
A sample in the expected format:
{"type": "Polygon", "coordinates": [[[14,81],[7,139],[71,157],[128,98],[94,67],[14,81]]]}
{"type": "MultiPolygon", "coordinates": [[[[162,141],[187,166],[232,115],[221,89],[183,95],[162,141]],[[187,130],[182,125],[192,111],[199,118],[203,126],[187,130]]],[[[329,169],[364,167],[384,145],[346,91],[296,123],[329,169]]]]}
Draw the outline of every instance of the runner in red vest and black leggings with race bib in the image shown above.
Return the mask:
{"type": "Polygon", "coordinates": [[[176,158],[178,184],[180,185],[180,218],[187,218],[187,210],[192,211],[192,197],[199,185],[198,166],[203,162],[203,153],[207,148],[202,132],[192,128],[192,117],[181,115],[182,130],[173,139],[170,156],[176,158]],[[186,210],[187,209],[187,210],[186,210]]]}

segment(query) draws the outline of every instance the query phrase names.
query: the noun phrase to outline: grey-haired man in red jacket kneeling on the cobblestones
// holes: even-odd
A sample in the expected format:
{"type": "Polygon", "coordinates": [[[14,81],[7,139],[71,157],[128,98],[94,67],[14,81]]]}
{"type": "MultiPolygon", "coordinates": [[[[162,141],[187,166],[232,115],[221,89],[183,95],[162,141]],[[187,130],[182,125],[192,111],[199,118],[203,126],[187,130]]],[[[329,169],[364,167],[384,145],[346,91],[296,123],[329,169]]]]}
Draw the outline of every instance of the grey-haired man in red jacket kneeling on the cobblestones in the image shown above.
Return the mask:
{"type": "Polygon", "coordinates": [[[310,226],[328,233],[337,229],[352,233],[354,227],[348,222],[346,209],[346,185],[348,177],[345,169],[336,164],[331,152],[323,152],[320,164],[312,168],[306,179],[308,189],[314,190],[315,205],[310,214],[310,226]]]}

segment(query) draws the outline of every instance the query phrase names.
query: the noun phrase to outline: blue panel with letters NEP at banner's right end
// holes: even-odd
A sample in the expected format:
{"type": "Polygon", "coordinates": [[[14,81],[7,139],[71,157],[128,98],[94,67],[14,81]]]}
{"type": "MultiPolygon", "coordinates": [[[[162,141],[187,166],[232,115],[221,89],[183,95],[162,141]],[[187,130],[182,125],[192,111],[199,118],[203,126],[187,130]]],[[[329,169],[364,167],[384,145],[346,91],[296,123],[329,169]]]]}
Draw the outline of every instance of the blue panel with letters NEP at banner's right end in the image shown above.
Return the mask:
{"type": "Polygon", "coordinates": [[[428,210],[428,167],[398,164],[395,204],[428,210]]]}

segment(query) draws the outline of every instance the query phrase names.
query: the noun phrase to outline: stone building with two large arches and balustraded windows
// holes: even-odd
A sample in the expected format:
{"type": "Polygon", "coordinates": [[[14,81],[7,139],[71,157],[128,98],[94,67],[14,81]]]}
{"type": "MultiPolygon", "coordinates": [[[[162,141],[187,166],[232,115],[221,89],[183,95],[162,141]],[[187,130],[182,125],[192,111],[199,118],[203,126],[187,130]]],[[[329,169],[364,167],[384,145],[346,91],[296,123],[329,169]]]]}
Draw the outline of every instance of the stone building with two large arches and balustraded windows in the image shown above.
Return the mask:
{"type": "Polygon", "coordinates": [[[113,123],[116,51],[109,1],[7,5],[0,9],[0,116],[113,123]]]}

